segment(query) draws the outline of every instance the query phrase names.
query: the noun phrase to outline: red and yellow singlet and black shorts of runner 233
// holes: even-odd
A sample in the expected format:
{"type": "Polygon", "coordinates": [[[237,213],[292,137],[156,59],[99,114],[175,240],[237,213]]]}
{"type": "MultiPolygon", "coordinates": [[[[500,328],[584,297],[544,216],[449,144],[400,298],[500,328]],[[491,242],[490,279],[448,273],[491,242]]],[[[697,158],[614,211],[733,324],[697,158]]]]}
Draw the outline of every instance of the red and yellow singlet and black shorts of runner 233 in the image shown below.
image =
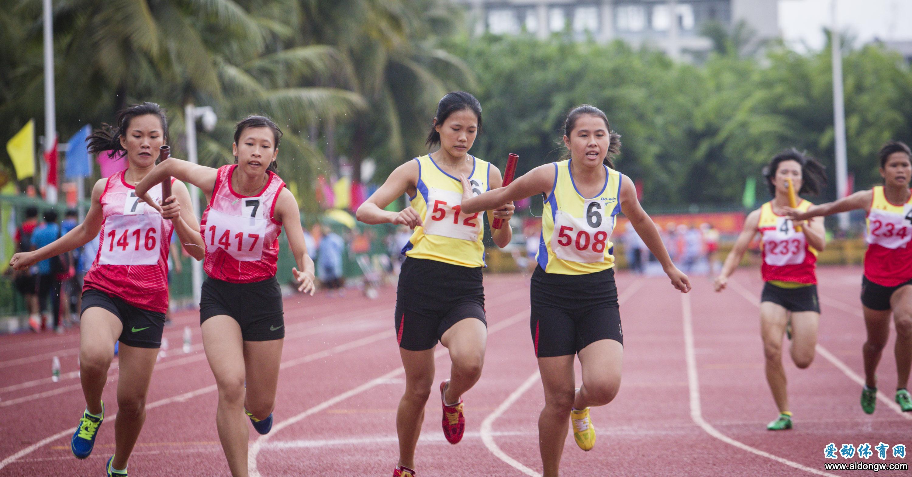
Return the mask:
{"type": "MultiPolygon", "coordinates": [[[[802,200],[796,209],[804,212],[811,205],[802,200]]],[[[760,301],[793,312],[820,313],[817,251],[807,244],[804,233],[795,231],[792,219],[772,212],[772,202],[762,205],[757,231],[761,233],[761,274],[765,282],[760,301]]]]}

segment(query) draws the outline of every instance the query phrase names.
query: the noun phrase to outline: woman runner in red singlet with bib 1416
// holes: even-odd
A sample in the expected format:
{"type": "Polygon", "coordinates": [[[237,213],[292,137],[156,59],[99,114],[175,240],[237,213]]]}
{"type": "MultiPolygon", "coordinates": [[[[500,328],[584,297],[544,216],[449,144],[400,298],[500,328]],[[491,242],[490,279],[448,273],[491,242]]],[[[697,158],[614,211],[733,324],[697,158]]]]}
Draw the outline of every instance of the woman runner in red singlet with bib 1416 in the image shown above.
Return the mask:
{"type": "Polygon", "coordinates": [[[168,251],[171,232],[185,250],[202,260],[202,237],[190,206],[190,193],[172,181],[171,197],[161,197],[161,184],[149,191],[148,207],[134,191],[159,158],[168,136],[164,109],[142,103],[119,112],[115,127],[105,125],[88,138],[93,153],[112,150],[128,167],[92,188],[86,219],[73,230],[34,252],[13,255],[10,265],[24,269],[39,260],[74,250],[101,233],[98,254],[86,274],[79,331],[79,370],[86,410],[70,449],[79,459],[92,452],[104,420],[101,393],[119,345],[118,412],[114,455],[106,464],[109,477],[125,477],[127,460],[146,420],[146,393],[161,346],[168,310],[168,251]],[[165,199],[166,205],[160,205],[165,199]]]}

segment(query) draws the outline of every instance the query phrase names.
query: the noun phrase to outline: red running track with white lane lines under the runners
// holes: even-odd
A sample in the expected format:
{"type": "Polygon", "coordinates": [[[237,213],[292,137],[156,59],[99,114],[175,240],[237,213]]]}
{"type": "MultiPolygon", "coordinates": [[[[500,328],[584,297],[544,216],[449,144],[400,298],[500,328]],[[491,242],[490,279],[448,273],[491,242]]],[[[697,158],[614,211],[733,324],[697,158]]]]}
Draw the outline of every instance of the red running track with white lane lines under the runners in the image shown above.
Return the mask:
{"type": "MultiPolygon", "coordinates": [[[[859,268],[822,269],[820,347],[811,368],[786,358],[795,429],[765,429],[776,416],[763,375],[756,271],[742,270],[715,294],[705,278],[689,296],[664,278],[619,273],[626,332],[625,369],[614,402],[593,410],[598,443],[565,448],[564,475],[859,475],[824,471],[824,446],[869,442],[912,446],[912,413],[892,402],[891,339],[879,368],[884,398],[868,416],[858,405],[862,374],[859,268]]],[[[419,475],[539,475],[537,417],[544,399],[528,327],[528,277],[488,275],[488,352],[482,380],[465,396],[467,430],[452,446],[440,431],[436,394],[417,452],[419,475]],[[496,297],[496,299],[494,298],[496,297]]],[[[285,302],[286,340],[275,427],[251,431],[251,474],[389,476],[397,460],[395,410],[402,391],[392,332],[395,289],[379,299],[349,294],[285,302]]],[[[170,349],[152,378],[149,408],[130,475],[228,475],[215,430],[216,393],[202,354],[198,315],[175,317],[170,349]],[[181,351],[183,327],[193,331],[181,351]]],[[[113,451],[113,420],[102,425],[86,461],[68,439],[84,401],[76,374],[78,335],[0,337],[0,476],[103,475],[113,451]],[[63,372],[50,379],[51,359],[63,372]]],[[[438,379],[449,375],[439,347],[438,379]]],[[[105,390],[117,411],[116,360],[105,390]]],[[[862,460],[864,461],[864,460],[862,460]]],[[[888,453],[867,462],[905,462],[888,453]]],[[[870,472],[870,471],[865,471],[870,472]]],[[[861,473],[864,474],[864,473],[861,473]]],[[[912,475],[877,472],[878,475],[912,475]]]]}

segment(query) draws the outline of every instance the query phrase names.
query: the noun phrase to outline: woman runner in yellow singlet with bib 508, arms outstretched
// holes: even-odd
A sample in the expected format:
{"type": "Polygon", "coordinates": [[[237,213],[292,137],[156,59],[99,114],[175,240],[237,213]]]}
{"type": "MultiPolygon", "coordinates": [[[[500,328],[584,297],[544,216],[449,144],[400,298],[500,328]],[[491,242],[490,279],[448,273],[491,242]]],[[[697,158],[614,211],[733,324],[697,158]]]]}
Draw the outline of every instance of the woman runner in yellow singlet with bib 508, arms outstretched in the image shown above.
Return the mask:
{"type": "Polygon", "coordinates": [[[476,195],[462,178],[462,213],[477,213],[535,194],[544,195],[542,235],[532,276],[530,323],[544,384],[538,420],[544,476],[560,467],[568,420],[584,451],[596,443],[589,408],[617,395],[623,331],[610,242],[617,213],[623,212],[681,292],[690,284],[671,263],[658,229],[637,201],[633,182],[614,170],[620,136],[601,109],[581,105],[564,123],[565,160],[536,167],[502,189],[476,195]],[[583,385],[575,389],[579,355],[583,385]]]}

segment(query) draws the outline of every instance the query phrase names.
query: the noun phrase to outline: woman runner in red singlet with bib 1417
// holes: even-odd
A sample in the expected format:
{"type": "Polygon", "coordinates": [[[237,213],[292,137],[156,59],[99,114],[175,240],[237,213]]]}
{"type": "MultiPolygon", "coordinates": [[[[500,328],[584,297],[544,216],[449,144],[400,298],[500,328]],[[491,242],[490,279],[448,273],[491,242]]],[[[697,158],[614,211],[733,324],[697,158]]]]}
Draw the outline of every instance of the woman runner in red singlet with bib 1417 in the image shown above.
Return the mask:
{"type": "Polygon", "coordinates": [[[298,291],[314,293],[314,262],[307,256],[297,201],[275,172],[281,137],[271,119],[250,116],[234,129],[234,164],[212,169],[171,158],[136,186],[148,201],[154,184],[173,176],[209,199],[199,229],[209,275],[200,298],[202,346],[219,388],[215,422],[234,477],[247,477],[244,414],[260,434],[273,424],[285,337],[275,278],[283,227],[297,263],[292,273],[298,291]]]}

